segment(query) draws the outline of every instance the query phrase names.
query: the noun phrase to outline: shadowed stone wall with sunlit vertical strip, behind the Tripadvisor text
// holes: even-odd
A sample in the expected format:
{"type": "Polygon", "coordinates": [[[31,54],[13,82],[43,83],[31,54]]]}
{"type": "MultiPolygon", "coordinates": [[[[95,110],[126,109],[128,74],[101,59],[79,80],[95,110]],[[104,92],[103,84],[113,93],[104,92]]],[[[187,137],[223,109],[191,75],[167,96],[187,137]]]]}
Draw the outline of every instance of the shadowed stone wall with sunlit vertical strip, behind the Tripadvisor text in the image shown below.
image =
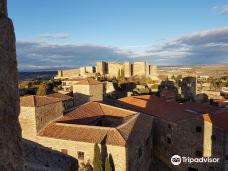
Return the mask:
{"type": "Polygon", "coordinates": [[[205,129],[208,126],[210,127],[200,119],[190,119],[179,123],[156,119],[154,129],[156,137],[155,156],[175,171],[187,171],[190,167],[199,171],[221,170],[221,163],[181,163],[174,167],[170,162],[173,155],[199,158],[200,156],[196,156],[197,151],[201,152],[202,157],[208,157],[211,153],[211,157],[219,157],[222,160],[222,132],[214,127],[211,132],[205,129]],[[215,141],[211,142],[211,135],[215,135],[215,141]]]}

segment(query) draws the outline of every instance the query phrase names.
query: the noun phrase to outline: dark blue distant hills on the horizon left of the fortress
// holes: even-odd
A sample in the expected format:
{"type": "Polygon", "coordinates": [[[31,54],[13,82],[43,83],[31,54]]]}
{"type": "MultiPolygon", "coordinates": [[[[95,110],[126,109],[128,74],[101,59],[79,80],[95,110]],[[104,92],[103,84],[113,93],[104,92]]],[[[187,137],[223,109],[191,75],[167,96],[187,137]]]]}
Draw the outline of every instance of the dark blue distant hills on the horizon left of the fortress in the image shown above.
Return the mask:
{"type": "Polygon", "coordinates": [[[57,71],[19,72],[19,81],[50,80],[55,75],[57,75],[57,71]]]}

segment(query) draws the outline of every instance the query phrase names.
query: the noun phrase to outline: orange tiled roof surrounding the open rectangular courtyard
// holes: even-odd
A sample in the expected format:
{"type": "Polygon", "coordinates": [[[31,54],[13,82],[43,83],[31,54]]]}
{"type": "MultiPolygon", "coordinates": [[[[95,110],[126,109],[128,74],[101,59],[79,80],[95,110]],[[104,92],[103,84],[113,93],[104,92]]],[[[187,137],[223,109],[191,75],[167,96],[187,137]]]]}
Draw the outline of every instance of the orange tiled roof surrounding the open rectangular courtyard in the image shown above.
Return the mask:
{"type": "Polygon", "coordinates": [[[39,136],[88,143],[105,142],[110,145],[126,146],[128,143],[141,141],[143,136],[147,136],[146,131],[152,128],[152,119],[152,117],[144,114],[90,102],[49,124],[39,133],[39,136]],[[67,121],[75,119],[89,119],[104,115],[127,119],[117,127],[67,123],[67,121]]]}

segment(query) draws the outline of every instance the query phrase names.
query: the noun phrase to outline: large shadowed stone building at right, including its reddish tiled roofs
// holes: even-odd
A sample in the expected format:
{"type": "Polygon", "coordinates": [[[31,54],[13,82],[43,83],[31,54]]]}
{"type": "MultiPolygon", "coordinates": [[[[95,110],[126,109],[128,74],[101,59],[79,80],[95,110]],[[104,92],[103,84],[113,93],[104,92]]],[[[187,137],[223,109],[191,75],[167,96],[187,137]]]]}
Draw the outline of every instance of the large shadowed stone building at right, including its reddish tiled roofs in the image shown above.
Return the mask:
{"type": "Polygon", "coordinates": [[[154,156],[171,170],[217,171],[227,169],[227,109],[193,102],[179,104],[155,96],[119,99],[119,107],[154,117],[154,156]],[[174,166],[173,155],[219,158],[218,163],[185,163],[174,166]]]}

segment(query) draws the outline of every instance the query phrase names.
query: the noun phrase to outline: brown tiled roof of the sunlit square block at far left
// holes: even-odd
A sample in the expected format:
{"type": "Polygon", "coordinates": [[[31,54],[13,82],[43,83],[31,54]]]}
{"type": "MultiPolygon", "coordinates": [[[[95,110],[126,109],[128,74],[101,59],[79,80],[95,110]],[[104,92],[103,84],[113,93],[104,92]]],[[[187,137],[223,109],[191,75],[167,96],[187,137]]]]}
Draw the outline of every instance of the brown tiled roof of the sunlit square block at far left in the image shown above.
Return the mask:
{"type": "Polygon", "coordinates": [[[60,102],[60,99],[46,96],[23,96],[20,98],[20,106],[23,107],[40,107],[48,104],[60,102]]]}

